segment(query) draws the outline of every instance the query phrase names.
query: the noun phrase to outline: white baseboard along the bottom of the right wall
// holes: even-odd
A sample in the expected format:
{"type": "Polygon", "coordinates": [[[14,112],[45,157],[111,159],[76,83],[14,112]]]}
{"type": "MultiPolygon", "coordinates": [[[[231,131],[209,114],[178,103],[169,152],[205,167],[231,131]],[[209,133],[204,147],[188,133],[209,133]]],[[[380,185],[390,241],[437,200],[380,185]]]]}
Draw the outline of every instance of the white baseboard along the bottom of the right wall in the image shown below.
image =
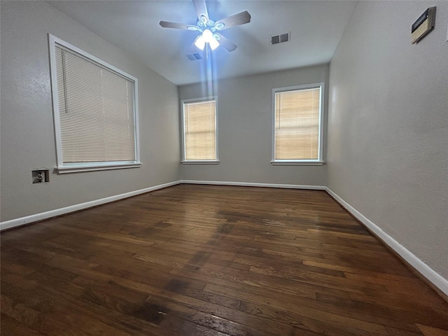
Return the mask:
{"type": "Polygon", "coordinates": [[[388,245],[390,248],[393,249],[398,255],[401,256],[406,262],[409,263],[414,269],[416,269],[417,272],[419,272],[421,275],[423,275],[430,283],[433,283],[435,287],[437,287],[439,290],[444,293],[444,295],[448,295],[448,280],[444,279],[443,276],[435,272],[434,269],[430,268],[428,265],[426,265],[425,262],[423,262],[421,259],[417,258],[416,255],[411,253],[407,248],[402,246],[398,241],[393,239],[391,236],[389,236],[386,232],[381,230],[377,225],[375,225],[372,221],[370,221],[367,217],[365,217],[363,214],[361,214],[358,210],[351,207],[351,205],[344,200],[342,200],[339,195],[334,193],[330,188],[325,188],[328,194],[330,194],[331,197],[333,197],[339,204],[342,205],[346,209],[346,211],[349,211],[350,214],[352,214],[358,221],[363,223],[369,230],[371,230],[379,239],[384,241],[384,244],[388,245]]]}

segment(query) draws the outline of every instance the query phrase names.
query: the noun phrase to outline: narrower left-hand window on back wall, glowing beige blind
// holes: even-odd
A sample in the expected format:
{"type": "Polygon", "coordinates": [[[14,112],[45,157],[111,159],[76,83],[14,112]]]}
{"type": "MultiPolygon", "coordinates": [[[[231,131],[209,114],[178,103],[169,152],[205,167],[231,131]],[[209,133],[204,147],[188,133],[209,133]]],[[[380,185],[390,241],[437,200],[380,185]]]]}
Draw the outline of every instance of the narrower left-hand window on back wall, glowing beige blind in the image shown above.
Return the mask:
{"type": "Polygon", "coordinates": [[[183,163],[218,163],[216,97],[182,102],[183,163]]]}

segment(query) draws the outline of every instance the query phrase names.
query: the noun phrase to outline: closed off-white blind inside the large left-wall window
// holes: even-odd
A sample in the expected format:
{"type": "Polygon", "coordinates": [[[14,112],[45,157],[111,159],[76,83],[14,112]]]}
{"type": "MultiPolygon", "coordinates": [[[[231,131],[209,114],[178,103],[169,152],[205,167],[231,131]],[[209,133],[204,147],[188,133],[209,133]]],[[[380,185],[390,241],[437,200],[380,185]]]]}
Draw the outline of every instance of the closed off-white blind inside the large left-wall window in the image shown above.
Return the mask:
{"type": "Polygon", "coordinates": [[[134,162],[134,81],[55,48],[64,163],[134,162]]]}

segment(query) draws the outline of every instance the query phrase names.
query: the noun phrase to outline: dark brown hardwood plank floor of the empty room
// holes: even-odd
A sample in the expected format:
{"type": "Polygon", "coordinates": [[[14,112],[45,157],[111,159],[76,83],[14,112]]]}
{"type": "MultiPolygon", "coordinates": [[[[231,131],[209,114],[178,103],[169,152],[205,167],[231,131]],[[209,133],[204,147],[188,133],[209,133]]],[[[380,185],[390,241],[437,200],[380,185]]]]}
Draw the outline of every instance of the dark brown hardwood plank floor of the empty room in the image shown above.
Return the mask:
{"type": "Polygon", "coordinates": [[[1,335],[448,335],[324,191],[179,185],[1,233],[1,335]]]}

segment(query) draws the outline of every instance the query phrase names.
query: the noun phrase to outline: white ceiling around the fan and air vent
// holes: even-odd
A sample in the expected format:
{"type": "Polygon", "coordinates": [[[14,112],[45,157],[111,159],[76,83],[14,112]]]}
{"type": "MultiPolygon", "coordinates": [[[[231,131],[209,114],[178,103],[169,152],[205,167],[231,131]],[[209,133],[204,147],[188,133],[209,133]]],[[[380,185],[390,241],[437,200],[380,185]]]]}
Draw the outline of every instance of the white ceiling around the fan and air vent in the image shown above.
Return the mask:
{"type": "MultiPolygon", "coordinates": [[[[190,0],[48,1],[106,41],[127,50],[176,85],[198,83],[204,60],[186,55],[197,31],[162,28],[160,20],[194,25],[190,0]]],[[[219,20],[248,10],[251,22],[221,31],[238,45],[212,52],[214,76],[226,78],[330,62],[356,1],[207,1],[219,20]],[[271,45],[269,36],[290,31],[290,41],[271,45]]]]}

